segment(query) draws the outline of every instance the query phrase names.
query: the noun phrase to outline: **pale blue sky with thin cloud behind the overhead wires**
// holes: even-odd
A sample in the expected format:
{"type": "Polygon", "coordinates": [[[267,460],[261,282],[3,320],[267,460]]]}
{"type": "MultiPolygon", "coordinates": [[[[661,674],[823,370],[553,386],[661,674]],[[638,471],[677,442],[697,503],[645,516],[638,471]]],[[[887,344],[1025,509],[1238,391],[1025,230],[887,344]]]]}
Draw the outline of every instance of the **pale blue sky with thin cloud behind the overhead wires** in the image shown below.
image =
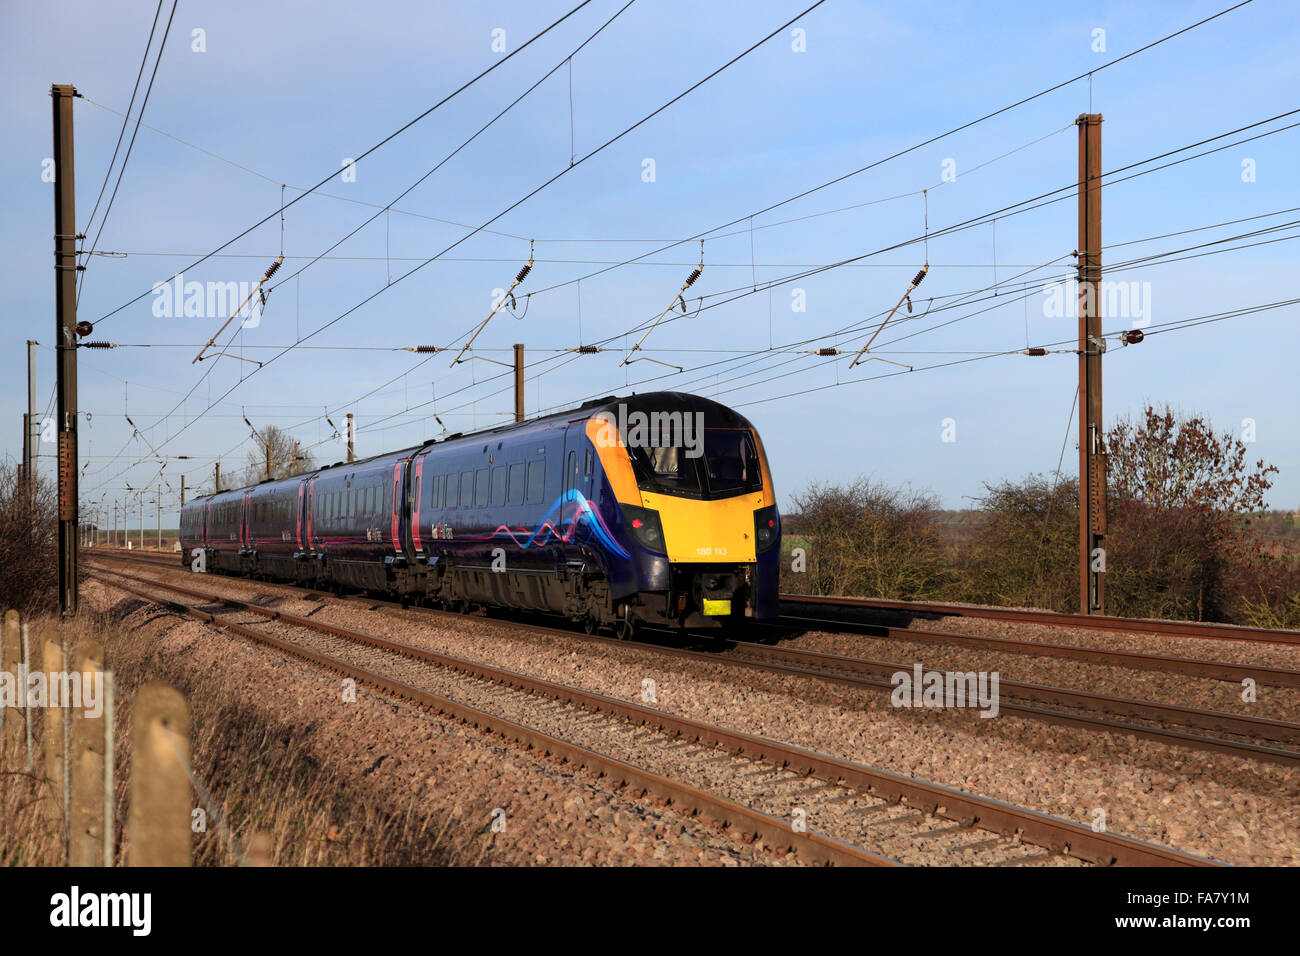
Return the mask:
{"type": "MultiPolygon", "coordinates": [[[[512,51],[571,5],[181,0],[144,114],[144,124],[174,138],[139,130],[99,242],[101,251],[126,255],[90,259],[78,317],[95,321],[148,293],[277,209],[280,183],[290,186],[289,199],[300,195],[291,187],[315,185],[500,60],[493,49],[495,30],[504,31],[512,51]],[[195,30],[203,31],[203,52],[194,49],[195,30]]],[[[125,497],[127,483],[161,481],[164,523],[174,524],[168,515],[174,515],[182,472],[188,488],[211,488],[218,457],[226,472],[243,467],[252,447],[243,414],[257,427],[291,428],[322,462],[343,457],[343,442],[332,438],[325,423],[326,408],[339,425],[347,411],[356,414],[360,454],[439,434],[434,411],[454,432],[506,420],[510,378],[493,378],[504,368],[473,360],[452,369],[455,352],[430,358],[400,349],[459,347],[488,315],[494,290],[506,287],[528,260],[528,239],[536,239],[537,261],[516,295],[537,294],[520,320],[499,312],[474,354],[508,360],[510,346],[525,343],[529,412],[633,389],[715,397],[758,425],[783,502],[809,481],[871,475],[930,489],[945,506],[963,507],[984,481],[1052,471],[1067,429],[1065,460],[1072,471],[1067,414],[1076,384],[1074,355],[1008,355],[922,369],[1075,334],[1072,315],[1052,315],[1041,291],[1049,278],[1069,274],[1076,245],[1072,198],[935,237],[928,252],[914,243],[771,291],[764,284],[922,235],[926,202],[916,194],[923,189],[930,229],[937,230],[1070,185],[1078,156],[1072,122],[1089,111],[1089,101],[1105,117],[1108,170],[1296,109],[1300,10],[1292,3],[1256,0],[1097,73],[1091,83],[1074,83],[757,216],[751,233],[745,217],[758,209],[1095,70],[1230,5],[829,0],[794,25],[805,31],[802,52],[793,48],[793,27],[784,30],[493,224],[493,233],[469,238],[389,286],[390,276],[469,232],[452,224],[485,222],[568,168],[571,156],[616,135],[806,5],[637,0],[573,57],[572,114],[564,66],[332,254],[344,258],[317,261],[292,277],[563,64],[621,0],[589,4],[363,160],[355,182],[334,176],[320,190],[330,195],[311,195],[285,213],[285,268],[273,280],[260,324],[239,333],[230,351],[265,362],[280,351],[268,346],[292,345],[380,293],[303,343],[317,347],[299,346],[260,371],[231,358],[191,364],[225,316],[159,317],[151,294],[101,321],[92,338],[122,347],[79,355],[81,407],[91,412],[81,425],[83,501],[112,502],[125,497]],[[1105,31],[1105,51],[1093,49],[1097,30],[1105,31]],[[654,161],[651,182],[644,176],[647,159],[654,161]],[[945,182],[945,169],[956,179],[945,182]],[[624,333],[672,300],[699,261],[699,243],[580,285],[572,280],[738,219],[741,225],[705,243],[705,271],[688,298],[703,295],[712,306],[731,298],[720,295],[725,290],[751,294],[677,317],[647,337],[646,355],[684,365],[685,373],[650,362],[620,367],[619,346],[640,336],[624,339],[624,333]],[[914,313],[900,312],[874,346],[881,358],[918,371],[880,377],[902,371],[883,362],[849,369],[862,336],[879,324],[871,317],[898,300],[927,255],[931,269],[913,297],[914,313]],[[1026,272],[1015,282],[1032,285],[1008,285],[1026,272]],[[988,300],[924,316],[950,302],[944,297],[994,282],[1002,284],[997,291],[1005,304],[988,300]],[[556,284],[564,285],[538,291],[556,284]],[[797,302],[803,311],[794,310],[797,302]],[[931,329],[978,310],[988,311],[931,329]],[[837,337],[841,329],[854,333],[837,337]],[[909,337],[893,341],[902,336],[909,337]],[[611,339],[610,351],[562,351],[603,339],[611,339]],[[151,347],[135,347],[144,345],[151,347]],[[806,354],[824,346],[849,354],[806,354]],[[146,444],[133,437],[127,412],[161,454],[191,458],[169,459],[160,472],[146,444]],[[942,440],[949,419],[948,437],[956,441],[942,440]]],[[[164,22],[169,9],[170,0],[164,22]]],[[[0,153],[6,252],[0,260],[6,289],[0,330],[8,343],[0,355],[0,405],[12,412],[12,427],[0,429],[0,454],[16,458],[21,450],[23,341],[53,341],[53,203],[52,186],[42,179],[51,153],[49,85],[70,82],[88,98],[75,111],[77,209],[84,229],[121,129],[121,117],[104,107],[126,109],[153,12],[153,3],[82,1],[9,3],[0,10],[8,131],[0,153]]],[[[1209,147],[1244,135],[1251,134],[1209,147]]],[[[1300,207],[1297,140],[1300,129],[1286,130],[1108,187],[1104,242],[1300,207]],[[1243,177],[1247,160],[1253,161],[1253,181],[1243,177]]],[[[1295,219],[1297,213],[1278,215],[1117,247],[1104,261],[1295,219]]],[[[1243,241],[1280,242],[1135,268],[1115,278],[1138,284],[1149,310],[1135,320],[1152,325],[1287,299],[1295,295],[1296,248],[1286,241],[1292,234],[1295,228],[1243,241]]],[[[280,250],[274,219],[185,278],[252,284],[280,250]]],[[[520,298],[520,311],[523,304],[520,298]]],[[[694,311],[699,303],[689,298],[689,304],[694,311]]],[[[1150,336],[1131,349],[1113,343],[1105,362],[1108,423],[1145,402],[1204,412],[1238,433],[1244,420],[1253,420],[1252,458],[1282,470],[1270,503],[1300,507],[1296,317],[1292,306],[1150,336]]],[[[1128,317],[1105,320],[1108,330],[1131,324],[1128,317]]],[[[53,388],[48,347],[38,363],[44,411],[53,388]]],[[[52,475],[53,458],[43,458],[42,468],[52,475]]],[[[147,523],[153,512],[148,506],[147,523]]]]}

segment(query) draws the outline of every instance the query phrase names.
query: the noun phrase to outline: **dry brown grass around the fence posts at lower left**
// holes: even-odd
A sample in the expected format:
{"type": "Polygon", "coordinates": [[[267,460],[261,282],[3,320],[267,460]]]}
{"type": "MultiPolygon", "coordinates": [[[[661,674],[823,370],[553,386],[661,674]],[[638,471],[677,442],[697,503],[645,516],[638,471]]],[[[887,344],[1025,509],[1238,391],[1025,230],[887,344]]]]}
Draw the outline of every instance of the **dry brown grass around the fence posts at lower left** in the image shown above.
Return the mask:
{"type": "MultiPolygon", "coordinates": [[[[48,623],[32,620],[31,632],[48,623]]],[[[481,857],[481,840],[446,840],[454,809],[439,813],[377,799],[358,783],[355,767],[333,766],[315,753],[303,727],[251,701],[243,675],[190,672],[161,656],[146,631],[88,609],[64,636],[69,648],[90,636],[103,641],[116,676],[118,865],[130,852],[121,823],[130,812],[131,697],[147,680],[172,684],[190,704],[192,765],[212,799],[207,832],[194,838],[195,865],[237,865],[250,857],[296,866],[465,865],[481,857]]],[[[57,788],[43,773],[44,722],[39,711],[32,717],[32,771],[22,736],[9,741],[5,734],[0,747],[0,864],[57,866],[64,862],[62,813],[57,788]]],[[[9,719],[22,726],[21,711],[8,711],[9,719]]],[[[205,803],[198,793],[192,799],[195,806],[205,803]]]]}

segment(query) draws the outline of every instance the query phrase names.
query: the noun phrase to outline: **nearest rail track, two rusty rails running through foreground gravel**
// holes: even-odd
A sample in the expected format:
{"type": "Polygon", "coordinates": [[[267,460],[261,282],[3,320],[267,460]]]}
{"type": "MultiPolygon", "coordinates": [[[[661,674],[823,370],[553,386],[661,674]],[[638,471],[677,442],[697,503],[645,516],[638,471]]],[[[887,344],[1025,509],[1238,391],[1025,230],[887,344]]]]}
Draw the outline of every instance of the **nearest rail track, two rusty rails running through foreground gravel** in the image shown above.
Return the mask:
{"type": "MultiPolygon", "coordinates": [[[[676,717],[653,708],[558,684],[541,678],[367,635],[352,628],[337,627],[311,618],[285,614],[248,601],[152,578],[146,579],[138,575],[129,575],[116,568],[99,567],[92,568],[92,572],[110,587],[133,593],[142,600],[168,606],[282,653],[351,676],[359,683],[368,684],[389,695],[403,697],[436,713],[455,717],[485,732],[498,734],[524,747],[555,756],[576,766],[588,767],[634,791],[654,793],[679,808],[685,808],[692,813],[718,821],[724,827],[731,829],[733,832],[740,832],[742,836],[757,836],[763,839],[764,844],[770,847],[789,848],[801,860],[829,864],[897,865],[896,860],[872,853],[845,840],[812,831],[792,831],[790,825],[779,817],[742,806],[697,787],[646,771],[616,757],[558,739],[536,727],[507,721],[485,710],[429,693],[412,684],[395,680],[391,676],[358,667],[338,657],[328,656],[304,648],[294,641],[257,631],[246,624],[224,619],[202,605],[159,598],[156,593],[151,594],[150,589],[185,596],[209,606],[222,605],[238,611],[259,615],[278,626],[341,637],[355,645],[376,648],[439,669],[456,671],[476,680],[490,682],[514,691],[526,692],[536,697],[549,698],[562,705],[576,706],[593,714],[620,718],[623,722],[637,728],[651,730],[677,740],[720,749],[728,754],[740,754],[751,761],[764,762],[797,778],[811,777],[832,786],[855,790],[888,806],[905,803],[909,809],[919,810],[927,817],[952,821],[958,825],[959,830],[988,830],[1004,838],[1013,838],[1017,842],[1044,847],[1050,853],[1065,853],[1078,860],[1101,865],[1214,865],[1213,861],[1202,857],[1144,843],[1119,834],[1093,832],[1091,827],[1027,808],[867,767],[776,740],[757,737],[689,718],[676,717]],[[126,581],[134,581],[134,584],[126,581]],[[136,587],[136,584],[143,584],[144,588],[136,587]]],[[[573,636],[572,632],[564,633],[573,636]]]]}

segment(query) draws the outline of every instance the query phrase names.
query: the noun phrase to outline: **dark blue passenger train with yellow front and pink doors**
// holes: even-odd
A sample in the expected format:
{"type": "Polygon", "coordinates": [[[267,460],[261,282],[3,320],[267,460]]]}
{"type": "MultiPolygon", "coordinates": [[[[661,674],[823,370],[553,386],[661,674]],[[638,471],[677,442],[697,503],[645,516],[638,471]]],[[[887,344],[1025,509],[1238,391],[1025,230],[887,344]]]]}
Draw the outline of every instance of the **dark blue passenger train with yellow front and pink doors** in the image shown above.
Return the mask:
{"type": "Polygon", "coordinates": [[[775,617],[780,538],[758,431],[681,392],[595,399],[181,510],[192,571],[559,614],[623,637],[775,617]]]}

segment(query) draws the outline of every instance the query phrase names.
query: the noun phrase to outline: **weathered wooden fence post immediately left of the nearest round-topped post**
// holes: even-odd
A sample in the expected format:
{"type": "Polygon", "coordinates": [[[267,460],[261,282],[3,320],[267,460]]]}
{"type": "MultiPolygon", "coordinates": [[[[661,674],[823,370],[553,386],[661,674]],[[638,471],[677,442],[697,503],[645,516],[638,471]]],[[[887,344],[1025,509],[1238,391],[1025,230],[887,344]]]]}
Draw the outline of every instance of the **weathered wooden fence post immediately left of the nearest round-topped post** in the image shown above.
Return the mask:
{"type": "Polygon", "coordinates": [[[83,640],[73,652],[65,692],[81,682],[81,700],[62,701],[72,721],[72,804],[68,819],[68,862],[104,865],[104,645],[83,640]],[[87,708],[94,704],[94,710],[87,708]],[[98,713],[95,713],[98,711],[98,713]]]}

